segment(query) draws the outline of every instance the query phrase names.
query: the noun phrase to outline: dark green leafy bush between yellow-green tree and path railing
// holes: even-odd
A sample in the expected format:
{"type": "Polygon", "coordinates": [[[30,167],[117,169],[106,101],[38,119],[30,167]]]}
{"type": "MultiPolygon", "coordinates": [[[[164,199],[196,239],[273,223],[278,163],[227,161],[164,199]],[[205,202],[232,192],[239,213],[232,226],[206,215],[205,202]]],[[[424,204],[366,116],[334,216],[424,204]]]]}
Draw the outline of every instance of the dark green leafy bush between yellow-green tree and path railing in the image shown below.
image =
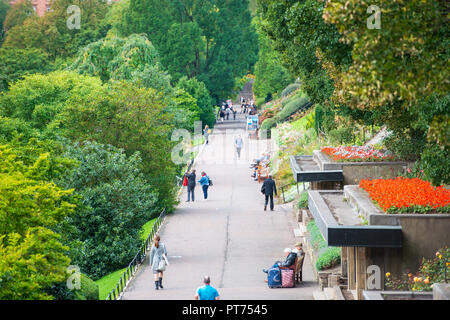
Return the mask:
{"type": "Polygon", "coordinates": [[[69,145],[65,155],[81,164],[61,178],[82,197],[70,224],[71,257],[93,279],[126,266],[141,245],[141,227],[157,215],[156,194],[144,179],[138,153],[95,142],[69,145]]]}

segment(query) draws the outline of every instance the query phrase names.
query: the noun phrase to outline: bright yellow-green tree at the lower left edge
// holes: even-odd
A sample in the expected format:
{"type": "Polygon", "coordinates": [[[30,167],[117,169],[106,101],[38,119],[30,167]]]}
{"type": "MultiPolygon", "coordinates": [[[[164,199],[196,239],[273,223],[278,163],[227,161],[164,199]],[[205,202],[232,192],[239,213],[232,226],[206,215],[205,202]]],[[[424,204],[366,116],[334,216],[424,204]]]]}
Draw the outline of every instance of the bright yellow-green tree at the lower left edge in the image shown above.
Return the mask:
{"type": "Polygon", "coordinates": [[[48,153],[25,165],[0,146],[1,299],[52,299],[46,289],[67,277],[69,248],[54,229],[74,211],[73,190],[43,180],[48,167],[48,153]]]}

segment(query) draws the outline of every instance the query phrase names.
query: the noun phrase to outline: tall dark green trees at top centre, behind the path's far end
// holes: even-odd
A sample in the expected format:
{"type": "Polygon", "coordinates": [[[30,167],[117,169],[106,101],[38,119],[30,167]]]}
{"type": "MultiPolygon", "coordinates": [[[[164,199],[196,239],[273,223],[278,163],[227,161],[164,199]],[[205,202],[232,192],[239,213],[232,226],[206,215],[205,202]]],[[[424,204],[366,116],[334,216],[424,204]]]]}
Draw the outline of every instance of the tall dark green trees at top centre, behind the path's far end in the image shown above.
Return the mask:
{"type": "Polygon", "coordinates": [[[145,33],[174,81],[196,77],[218,101],[257,59],[247,0],[130,0],[121,35],[145,33]]]}

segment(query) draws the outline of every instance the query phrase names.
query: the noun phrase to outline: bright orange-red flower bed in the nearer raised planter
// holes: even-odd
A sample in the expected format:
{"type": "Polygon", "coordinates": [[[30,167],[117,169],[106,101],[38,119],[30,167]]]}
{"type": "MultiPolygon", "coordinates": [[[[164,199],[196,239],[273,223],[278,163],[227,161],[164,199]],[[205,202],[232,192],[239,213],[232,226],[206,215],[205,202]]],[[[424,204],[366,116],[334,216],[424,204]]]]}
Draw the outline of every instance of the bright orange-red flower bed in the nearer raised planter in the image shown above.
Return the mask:
{"type": "Polygon", "coordinates": [[[450,213],[450,190],[419,178],[363,179],[359,186],[386,213],[450,213]]]}

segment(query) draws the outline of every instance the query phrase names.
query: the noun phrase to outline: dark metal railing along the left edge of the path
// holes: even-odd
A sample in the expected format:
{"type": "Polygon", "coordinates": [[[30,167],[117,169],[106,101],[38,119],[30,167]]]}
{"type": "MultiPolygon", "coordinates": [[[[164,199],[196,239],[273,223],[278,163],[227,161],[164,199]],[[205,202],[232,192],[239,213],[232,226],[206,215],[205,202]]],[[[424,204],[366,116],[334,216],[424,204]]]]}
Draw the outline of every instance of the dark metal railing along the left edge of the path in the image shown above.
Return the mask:
{"type": "Polygon", "coordinates": [[[145,241],[142,243],[142,246],[139,249],[138,253],[134,256],[133,260],[131,260],[127,269],[122,274],[122,277],[120,277],[120,280],[117,283],[116,287],[108,294],[106,300],[117,300],[121,297],[122,293],[127,288],[129,281],[136,274],[138,266],[142,262],[144,262],[145,256],[147,255],[147,252],[150,250],[150,246],[153,243],[153,237],[158,232],[165,216],[166,209],[164,209],[156,219],[155,223],[153,224],[152,230],[150,231],[150,234],[147,236],[147,239],[145,239],[145,241]]]}

